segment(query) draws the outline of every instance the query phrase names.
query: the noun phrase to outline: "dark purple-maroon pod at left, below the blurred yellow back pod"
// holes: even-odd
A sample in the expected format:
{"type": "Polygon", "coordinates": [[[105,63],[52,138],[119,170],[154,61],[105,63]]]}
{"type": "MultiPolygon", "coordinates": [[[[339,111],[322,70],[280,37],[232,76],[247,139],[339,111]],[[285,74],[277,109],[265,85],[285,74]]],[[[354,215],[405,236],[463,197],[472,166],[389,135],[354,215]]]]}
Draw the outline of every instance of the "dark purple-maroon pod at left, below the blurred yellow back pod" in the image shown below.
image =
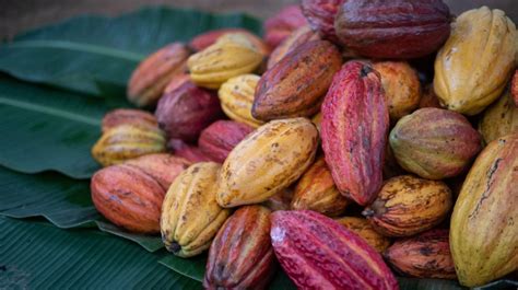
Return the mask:
{"type": "Polygon", "coordinates": [[[214,92],[185,82],[160,100],[155,116],[169,138],[195,142],[200,132],[223,113],[214,92]]]}

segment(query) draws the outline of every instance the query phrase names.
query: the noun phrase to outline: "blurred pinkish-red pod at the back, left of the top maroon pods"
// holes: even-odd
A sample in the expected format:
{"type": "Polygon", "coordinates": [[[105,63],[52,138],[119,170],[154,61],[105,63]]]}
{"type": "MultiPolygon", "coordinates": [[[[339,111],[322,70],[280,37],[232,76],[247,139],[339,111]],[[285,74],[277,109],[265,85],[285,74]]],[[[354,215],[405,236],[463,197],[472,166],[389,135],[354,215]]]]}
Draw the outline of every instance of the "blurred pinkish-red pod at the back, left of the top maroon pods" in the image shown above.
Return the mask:
{"type": "Polygon", "coordinates": [[[264,22],[264,40],[270,47],[274,48],[289,37],[293,31],[306,24],[301,7],[287,5],[264,22]]]}

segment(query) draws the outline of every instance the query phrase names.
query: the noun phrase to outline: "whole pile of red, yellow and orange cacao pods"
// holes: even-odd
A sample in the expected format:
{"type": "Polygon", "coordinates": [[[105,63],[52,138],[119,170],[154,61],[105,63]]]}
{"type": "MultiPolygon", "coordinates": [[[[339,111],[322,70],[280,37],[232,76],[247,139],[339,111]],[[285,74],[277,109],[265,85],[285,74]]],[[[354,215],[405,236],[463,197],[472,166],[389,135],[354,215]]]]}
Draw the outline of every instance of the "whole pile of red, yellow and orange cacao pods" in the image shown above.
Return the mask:
{"type": "Polygon", "coordinates": [[[442,0],[303,0],[173,43],[103,120],[101,213],[207,289],[476,287],[518,266],[518,34],[442,0]],[[514,77],[513,77],[514,76],[514,77]],[[154,109],[154,115],[145,109],[154,109]],[[281,267],[278,267],[280,265],[281,267]]]}

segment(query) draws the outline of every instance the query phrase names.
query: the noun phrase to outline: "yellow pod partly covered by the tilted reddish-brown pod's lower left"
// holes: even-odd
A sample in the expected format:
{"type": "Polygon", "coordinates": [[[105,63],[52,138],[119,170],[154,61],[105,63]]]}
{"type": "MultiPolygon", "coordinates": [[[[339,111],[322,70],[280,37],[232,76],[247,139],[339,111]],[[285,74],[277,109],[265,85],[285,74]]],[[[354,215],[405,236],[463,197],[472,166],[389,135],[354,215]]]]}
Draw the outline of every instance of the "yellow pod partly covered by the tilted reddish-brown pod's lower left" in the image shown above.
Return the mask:
{"type": "Polygon", "coordinates": [[[254,128],[264,124],[251,116],[251,106],[254,105],[254,94],[260,77],[256,74],[242,74],[224,82],[217,95],[220,96],[221,107],[228,118],[245,123],[254,128]]]}

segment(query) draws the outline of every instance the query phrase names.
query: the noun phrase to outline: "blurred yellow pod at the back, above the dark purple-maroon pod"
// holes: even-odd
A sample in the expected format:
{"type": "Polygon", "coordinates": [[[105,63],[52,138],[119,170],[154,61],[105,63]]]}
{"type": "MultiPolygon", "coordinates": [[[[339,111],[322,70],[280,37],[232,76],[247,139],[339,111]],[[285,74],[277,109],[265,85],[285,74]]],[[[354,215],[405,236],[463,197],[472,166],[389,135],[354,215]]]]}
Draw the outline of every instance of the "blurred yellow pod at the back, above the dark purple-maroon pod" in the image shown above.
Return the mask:
{"type": "Polygon", "coordinates": [[[259,48],[240,33],[224,34],[189,57],[190,79],[199,86],[219,89],[226,80],[252,72],[262,61],[259,48]]]}

